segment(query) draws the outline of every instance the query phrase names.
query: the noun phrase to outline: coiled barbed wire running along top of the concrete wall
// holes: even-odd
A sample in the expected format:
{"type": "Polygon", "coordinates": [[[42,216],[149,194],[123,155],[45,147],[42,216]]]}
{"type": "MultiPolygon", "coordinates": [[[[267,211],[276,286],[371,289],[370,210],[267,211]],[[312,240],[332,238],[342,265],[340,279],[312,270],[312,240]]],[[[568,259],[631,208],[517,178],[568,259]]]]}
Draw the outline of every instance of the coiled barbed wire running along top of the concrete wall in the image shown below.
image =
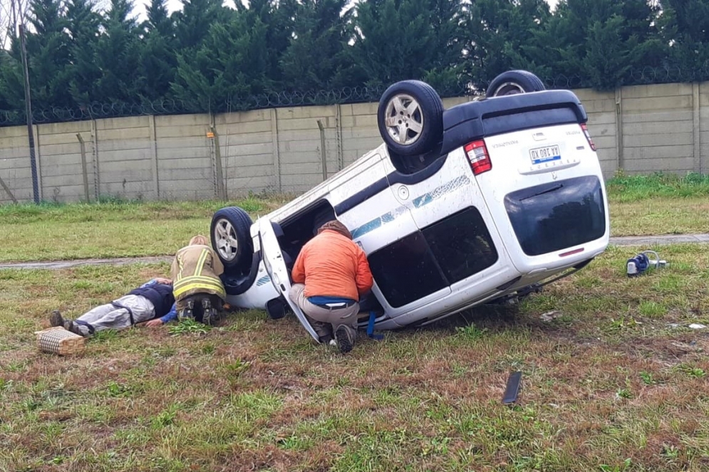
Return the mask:
{"type": "MultiPolygon", "coordinates": [[[[576,89],[596,87],[591,78],[578,75],[557,75],[542,77],[549,89],[576,89]]],[[[709,80],[709,63],[703,68],[686,70],[679,67],[646,67],[630,70],[623,77],[623,85],[645,85],[653,83],[688,83],[709,80]]],[[[188,113],[221,113],[265,108],[294,107],[306,105],[336,105],[348,103],[378,102],[385,85],[373,87],[346,87],[336,90],[284,90],[243,97],[229,97],[220,100],[185,101],[160,99],[140,103],[91,103],[81,107],[49,107],[33,110],[33,122],[51,123],[100,118],[128,117],[139,115],[184,115],[188,113]]],[[[470,85],[452,85],[437,89],[443,98],[480,95],[484,90],[470,85]]],[[[23,125],[26,123],[24,110],[0,110],[0,127],[23,125]]]]}

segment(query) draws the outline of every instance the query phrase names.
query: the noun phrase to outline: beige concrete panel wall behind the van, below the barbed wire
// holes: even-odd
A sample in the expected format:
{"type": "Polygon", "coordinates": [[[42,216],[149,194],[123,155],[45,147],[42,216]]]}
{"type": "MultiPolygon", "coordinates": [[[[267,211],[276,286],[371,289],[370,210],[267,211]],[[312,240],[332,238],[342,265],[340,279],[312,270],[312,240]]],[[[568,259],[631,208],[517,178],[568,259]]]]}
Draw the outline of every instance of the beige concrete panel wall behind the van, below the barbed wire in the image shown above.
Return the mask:
{"type": "MultiPolygon", "coordinates": [[[[709,83],[575,92],[606,178],[619,169],[708,172],[709,83]]],[[[376,110],[359,103],[36,125],[38,191],[48,201],[305,192],[381,143],[376,110]]],[[[27,142],[25,126],[0,128],[0,183],[18,201],[33,198],[27,142]]],[[[0,203],[11,201],[4,187],[0,203]]]]}

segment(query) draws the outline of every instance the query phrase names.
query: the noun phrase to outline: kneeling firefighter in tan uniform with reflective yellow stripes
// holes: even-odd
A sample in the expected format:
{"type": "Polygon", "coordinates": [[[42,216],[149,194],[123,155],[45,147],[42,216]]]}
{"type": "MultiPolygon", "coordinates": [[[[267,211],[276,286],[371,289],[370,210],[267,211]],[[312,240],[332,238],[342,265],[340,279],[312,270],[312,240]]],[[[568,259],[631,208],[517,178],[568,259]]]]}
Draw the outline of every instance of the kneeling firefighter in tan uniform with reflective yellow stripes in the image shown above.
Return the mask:
{"type": "Polygon", "coordinates": [[[175,254],[170,270],[175,280],[177,318],[214,325],[224,309],[227,293],[219,276],[224,265],[205,236],[192,236],[190,243],[175,254]]]}

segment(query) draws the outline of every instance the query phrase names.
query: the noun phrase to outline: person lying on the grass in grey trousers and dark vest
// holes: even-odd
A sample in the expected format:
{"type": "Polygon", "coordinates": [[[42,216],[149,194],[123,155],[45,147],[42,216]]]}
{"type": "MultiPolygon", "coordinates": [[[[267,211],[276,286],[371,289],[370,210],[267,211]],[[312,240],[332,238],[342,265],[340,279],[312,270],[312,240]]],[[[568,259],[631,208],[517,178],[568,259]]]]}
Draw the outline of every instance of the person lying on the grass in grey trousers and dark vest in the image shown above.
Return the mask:
{"type": "Polygon", "coordinates": [[[80,336],[90,336],[97,331],[123,330],[144,321],[150,327],[162,326],[175,318],[177,311],[172,280],[154,278],[123,297],[93,308],[76,320],[65,320],[59,310],[54,310],[49,324],[63,326],[80,336]]]}

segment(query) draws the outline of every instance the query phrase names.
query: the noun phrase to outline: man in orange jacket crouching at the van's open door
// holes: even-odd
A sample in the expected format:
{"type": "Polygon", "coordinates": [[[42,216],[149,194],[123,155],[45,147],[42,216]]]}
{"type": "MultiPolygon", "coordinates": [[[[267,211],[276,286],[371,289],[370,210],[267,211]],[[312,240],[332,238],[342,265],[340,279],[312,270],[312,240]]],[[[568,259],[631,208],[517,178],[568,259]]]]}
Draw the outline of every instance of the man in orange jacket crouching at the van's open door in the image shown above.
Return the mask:
{"type": "Polygon", "coordinates": [[[301,249],[289,297],[311,321],[320,342],[334,337],[350,352],[357,335],[358,300],[372,288],[367,256],[339,221],[328,221],[301,249]]]}

